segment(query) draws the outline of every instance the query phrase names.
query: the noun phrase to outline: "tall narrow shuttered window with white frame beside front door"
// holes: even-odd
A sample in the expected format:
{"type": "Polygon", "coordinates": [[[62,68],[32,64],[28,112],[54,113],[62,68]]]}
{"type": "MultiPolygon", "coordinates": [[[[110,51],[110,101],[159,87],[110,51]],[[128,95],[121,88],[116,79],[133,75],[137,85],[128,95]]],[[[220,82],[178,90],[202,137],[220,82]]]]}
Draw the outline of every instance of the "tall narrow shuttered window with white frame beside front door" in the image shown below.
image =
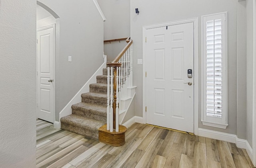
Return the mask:
{"type": "Polygon", "coordinates": [[[202,16],[202,123],[212,127],[228,126],[227,12],[202,16]]]}

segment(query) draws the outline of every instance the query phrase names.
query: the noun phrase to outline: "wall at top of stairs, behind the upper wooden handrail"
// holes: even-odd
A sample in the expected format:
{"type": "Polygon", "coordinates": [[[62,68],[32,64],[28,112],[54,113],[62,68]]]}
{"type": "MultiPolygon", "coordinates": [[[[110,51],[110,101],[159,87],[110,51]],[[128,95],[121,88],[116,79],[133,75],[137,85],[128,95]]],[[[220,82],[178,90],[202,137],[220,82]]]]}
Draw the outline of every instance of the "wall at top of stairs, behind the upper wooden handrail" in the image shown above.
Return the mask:
{"type": "MultiPolygon", "coordinates": [[[[106,17],[104,40],[129,37],[130,0],[98,0],[98,4],[106,17]]],[[[108,61],[113,61],[126,44],[126,41],[105,43],[104,53],[108,56],[108,61]]]]}

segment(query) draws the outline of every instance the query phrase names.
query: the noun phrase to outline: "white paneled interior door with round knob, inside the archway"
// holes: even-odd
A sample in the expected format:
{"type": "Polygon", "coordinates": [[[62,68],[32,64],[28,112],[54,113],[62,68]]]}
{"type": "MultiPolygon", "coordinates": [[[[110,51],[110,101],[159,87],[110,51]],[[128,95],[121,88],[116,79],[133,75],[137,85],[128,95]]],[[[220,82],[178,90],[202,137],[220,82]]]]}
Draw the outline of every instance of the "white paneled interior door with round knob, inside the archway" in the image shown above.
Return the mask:
{"type": "Polygon", "coordinates": [[[37,117],[54,122],[55,26],[37,30],[37,117]]]}

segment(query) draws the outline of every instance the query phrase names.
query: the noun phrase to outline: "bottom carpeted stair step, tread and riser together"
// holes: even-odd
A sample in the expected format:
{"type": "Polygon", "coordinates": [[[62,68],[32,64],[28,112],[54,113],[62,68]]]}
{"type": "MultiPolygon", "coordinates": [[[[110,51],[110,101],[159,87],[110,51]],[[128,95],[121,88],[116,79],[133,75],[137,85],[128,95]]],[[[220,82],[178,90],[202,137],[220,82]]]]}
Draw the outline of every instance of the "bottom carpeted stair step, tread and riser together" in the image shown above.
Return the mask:
{"type": "Polygon", "coordinates": [[[98,128],[106,122],[84,117],[81,115],[71,114],[60,119],[62,129],[78,133],[85,137],[98,140],[98,128]]]}

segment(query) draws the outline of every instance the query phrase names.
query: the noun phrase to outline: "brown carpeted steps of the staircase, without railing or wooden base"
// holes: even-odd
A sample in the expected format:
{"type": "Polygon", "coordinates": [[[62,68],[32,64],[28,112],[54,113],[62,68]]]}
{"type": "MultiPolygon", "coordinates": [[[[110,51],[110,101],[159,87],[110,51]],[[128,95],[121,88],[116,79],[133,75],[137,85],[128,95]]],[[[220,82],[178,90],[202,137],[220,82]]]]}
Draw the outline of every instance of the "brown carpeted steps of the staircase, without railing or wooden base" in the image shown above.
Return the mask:
{"type": "Polygon", "coordinates": [[[81,94],[82,102],[72,105],[72,114],[60,119],[61,128],[98,141],[98,129],[107,121],[107,68],[81,94]]]}

